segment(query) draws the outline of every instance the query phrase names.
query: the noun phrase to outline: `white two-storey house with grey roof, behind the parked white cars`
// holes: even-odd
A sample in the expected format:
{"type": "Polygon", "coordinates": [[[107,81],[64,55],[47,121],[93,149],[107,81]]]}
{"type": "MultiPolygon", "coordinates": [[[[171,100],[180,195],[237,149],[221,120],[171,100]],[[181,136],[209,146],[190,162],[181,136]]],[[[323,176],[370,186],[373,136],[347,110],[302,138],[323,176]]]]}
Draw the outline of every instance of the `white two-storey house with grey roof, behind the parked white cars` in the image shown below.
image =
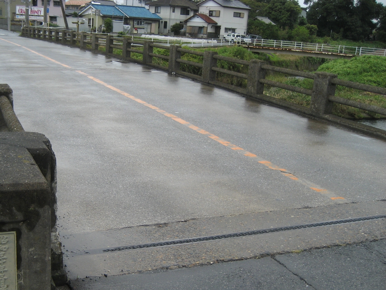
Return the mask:
{"type": "Polygon", "coordinates": [[[247,32],[248,12],[251,8],[244,3],[238,0],[204,0],[197,6],[200,14],[217,22],[216,25],[213,24],[217,35],[215,38],[230,32],[243,35],[247,32]]]}

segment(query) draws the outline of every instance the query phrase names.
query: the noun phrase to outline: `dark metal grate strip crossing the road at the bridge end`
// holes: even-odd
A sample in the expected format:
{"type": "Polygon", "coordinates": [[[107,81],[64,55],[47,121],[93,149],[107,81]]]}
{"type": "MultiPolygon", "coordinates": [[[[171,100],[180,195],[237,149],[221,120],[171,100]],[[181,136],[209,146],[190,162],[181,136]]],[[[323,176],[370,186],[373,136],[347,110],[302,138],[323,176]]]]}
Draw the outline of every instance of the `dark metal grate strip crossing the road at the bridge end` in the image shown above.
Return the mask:
{"type": "Polygon", "coordinates": [[[367,220],[378,220],[380,218],[386,218],[386,215],[374,215],[372,217],[359,217],[359,218],[346,218],[344,220],[332,220],[329,222],[307,223],[304,225],[290,225],[288,227],[279,227],[279,228],[273,228],[273,229],[250,230],[248,232],[240,232],[240,233],[233,233],[233,234],[210,235],[207,237],[195,237],[190,239],[180,239],[180,240],[173,240],[173,241],[154,242],[154,243],[148,243],[148,244],[115,247],[112,249],[105,249],[103,250],[103,252],[117,252],[117,251],[124,251],[124,250],[137,250],[137,249],[147,249],[147,248],[155,248],[155,247],[168,247],[168,246],[176,246],[176,245],[183,245],[183,244],[193,244],[193,243],[217,241],[217,240],[223,240],[223,239],[232,239],[237,237],[247,237],[250,235],[270,234],[270,233],[276,233],[276,232],[283,232],[286,230],[310,229],[310,228],[316,228],[316,227],[326,227],[329,225],[341,225],[344,223],[365,222],[367,220]]]}

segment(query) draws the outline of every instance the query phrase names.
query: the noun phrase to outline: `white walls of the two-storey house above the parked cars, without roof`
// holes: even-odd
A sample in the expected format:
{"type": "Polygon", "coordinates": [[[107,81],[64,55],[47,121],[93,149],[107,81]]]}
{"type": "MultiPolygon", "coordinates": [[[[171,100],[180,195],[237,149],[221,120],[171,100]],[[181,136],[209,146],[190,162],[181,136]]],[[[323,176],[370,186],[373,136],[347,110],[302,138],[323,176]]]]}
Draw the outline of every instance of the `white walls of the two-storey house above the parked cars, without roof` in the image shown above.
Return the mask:
{"type": "Polygon", "coordinates": [[[225,28],[233,28],[235,32],[245,35],[247,32],[247,23],[248,23],[248,9],[240,9],[233,7],[222,7],[218,3],[214,1],[205,2],[203,5],[200,5],[199,11],[202,14],[206,14],[209,16],[210,10],[219,10],[220,17],[209,16],[213,20],[217,22],[218,26],[221,26],[220,34],[228,34],[229,32],[225,32],[225,28]],[[244,18],[233,17],[233,12],[244,13],[244,18]]]}

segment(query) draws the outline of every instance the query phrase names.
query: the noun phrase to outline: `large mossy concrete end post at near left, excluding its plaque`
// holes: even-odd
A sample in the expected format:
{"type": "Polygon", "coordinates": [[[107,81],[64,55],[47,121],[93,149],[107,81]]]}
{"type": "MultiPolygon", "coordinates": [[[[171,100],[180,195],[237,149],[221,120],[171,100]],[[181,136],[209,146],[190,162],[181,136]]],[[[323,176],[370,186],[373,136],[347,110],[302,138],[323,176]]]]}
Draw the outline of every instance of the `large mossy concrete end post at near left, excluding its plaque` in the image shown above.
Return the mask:
{"type": "Polygon", "coordinates": [[[16,232],[17,289],[50,290],[55,155],[39,133],[0,132],[0,140],[0,163],[7,168],[0,176],[0,232],[16,232]]]}

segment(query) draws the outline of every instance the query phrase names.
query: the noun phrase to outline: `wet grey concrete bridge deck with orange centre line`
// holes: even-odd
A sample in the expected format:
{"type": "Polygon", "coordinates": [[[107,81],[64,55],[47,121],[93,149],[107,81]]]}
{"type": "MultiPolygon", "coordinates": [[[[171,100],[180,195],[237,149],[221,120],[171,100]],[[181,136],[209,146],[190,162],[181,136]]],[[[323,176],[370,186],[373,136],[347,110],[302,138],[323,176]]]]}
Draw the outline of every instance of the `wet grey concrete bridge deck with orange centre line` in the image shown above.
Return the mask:
{"type": "Polygon", "coordinates": [[[12,32],[0,30],[0,55],[0,83],[14,90],[20,122],[56,153],[59,232],[73,280],[386,237],[383,219],[103,252],[386,214],[386,143],[12,32]]]}

